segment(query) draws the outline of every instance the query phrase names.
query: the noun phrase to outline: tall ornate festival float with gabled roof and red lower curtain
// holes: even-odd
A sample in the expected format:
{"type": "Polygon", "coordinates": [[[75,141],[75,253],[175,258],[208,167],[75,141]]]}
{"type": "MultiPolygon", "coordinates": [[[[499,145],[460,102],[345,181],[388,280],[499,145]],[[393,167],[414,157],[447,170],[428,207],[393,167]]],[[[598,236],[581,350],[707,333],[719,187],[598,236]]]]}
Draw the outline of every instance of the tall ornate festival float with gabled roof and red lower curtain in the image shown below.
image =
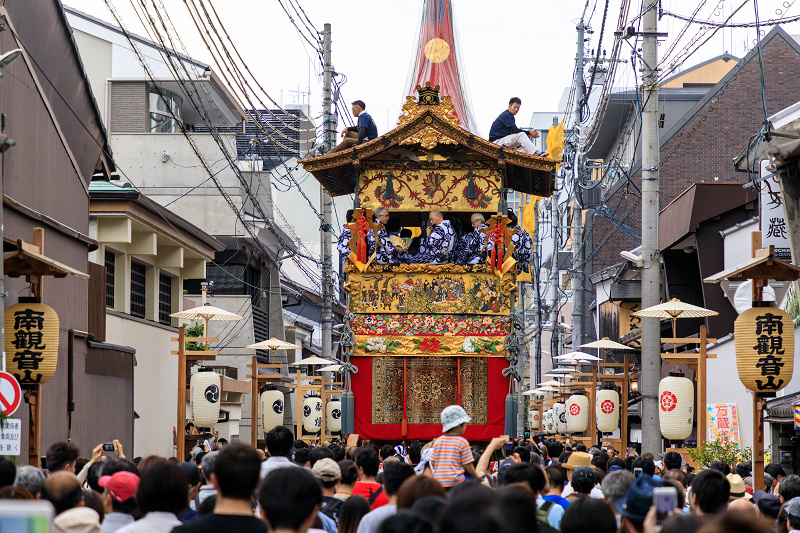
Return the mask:
{"type": "Polygon", "coordinates": [[[330,196],[354,195],[340,342],[343,431],[373,441],[437,437],[451,404],[472,418],[471,441],[515,427],[506,419],[516,418],[507,405],[516,405],[509,398],[520,377],[517,230],[508,227],[506,200],[514,191],[550,196],[557,161],[474,133],[451,13],[449,0],[424,4],[409,87],[416,94],[407,96],[395,129],[302,161],[330,196]],[[432,211],[467,231],[471,215],[481,213],[491,243],[485,261],[377,264],[370,243],[383,227],[373,219],[380,207],[422,236],[432,211]]]}

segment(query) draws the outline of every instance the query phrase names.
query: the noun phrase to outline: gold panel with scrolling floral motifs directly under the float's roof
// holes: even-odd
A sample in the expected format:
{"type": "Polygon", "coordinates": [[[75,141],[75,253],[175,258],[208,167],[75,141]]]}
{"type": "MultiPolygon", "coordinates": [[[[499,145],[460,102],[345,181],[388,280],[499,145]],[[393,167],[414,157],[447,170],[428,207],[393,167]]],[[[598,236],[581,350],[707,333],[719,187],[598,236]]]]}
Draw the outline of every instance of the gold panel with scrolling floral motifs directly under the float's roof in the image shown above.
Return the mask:
{"type": "Polygon", "coordinates": [[[497,211],[496,169],[392,168],[364,170],[361,207],[394,211],[497,211]]]}

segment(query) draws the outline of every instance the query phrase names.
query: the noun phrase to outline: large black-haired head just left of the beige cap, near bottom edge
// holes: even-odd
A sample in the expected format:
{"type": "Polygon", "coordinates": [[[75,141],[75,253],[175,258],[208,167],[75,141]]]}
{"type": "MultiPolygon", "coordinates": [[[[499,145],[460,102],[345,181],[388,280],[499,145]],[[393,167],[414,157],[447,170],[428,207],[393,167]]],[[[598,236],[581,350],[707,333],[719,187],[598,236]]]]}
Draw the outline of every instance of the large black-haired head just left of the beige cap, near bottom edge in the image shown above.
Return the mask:
{"type": "Polygon", "coordinates": [[[270,530],[298,530],[322,503],[317,479],[304,468],[278,468],[258,490],[258,503],[270,530]]]}

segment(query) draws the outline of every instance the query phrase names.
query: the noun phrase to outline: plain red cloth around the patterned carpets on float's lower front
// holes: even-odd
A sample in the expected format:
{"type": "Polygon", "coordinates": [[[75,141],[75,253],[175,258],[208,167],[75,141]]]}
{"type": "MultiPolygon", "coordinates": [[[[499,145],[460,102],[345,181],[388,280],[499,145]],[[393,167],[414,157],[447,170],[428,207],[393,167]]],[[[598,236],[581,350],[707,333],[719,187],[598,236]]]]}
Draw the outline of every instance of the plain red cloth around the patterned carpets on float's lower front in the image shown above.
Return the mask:
{"type": "MultiPolygon", "coordinates": [[[[401,383],[387,383],[387,381],[396,381],[390,375],[373,375],[374,367],[373,357],[353,357],[351,362],[358,367],[358,373],[352,375],[353,396],[355,397],[355,432],[358,433],[363,439],[370,440],[388,440],[398,441],[400,439],[407,440],[431,440],[442,434],[442,425],[439,423],[439,414],[441,409],[437,407],[435,412],[427,413],[426,418],[429,422],[426,424],[417,424],[413,422],[413,417],[409,416],[408,420],[408,434],[401,435],[402,431],[402,416],[395,414],[393,417],[396,423],[376,423],[380,421],[381,414],[385,413],[384,405],[377,405],[376,402],[385,402],[385,395],[380,391],[382,387],[387,385],[394,385],[395,389],[400,388],[406,392],[414,388],[413,383],[407,383],[403,386],[401,383]]],[[[389,359],[389,358],[383,358],[389,359]]],[[[393,357],[391,359],[397,360],[399,368],[403,367],[402,357],[393,357]]],[[[408,357],[409,364],[414,360],[414,357],[408,357]]],[[[455,361],[455,358],[447,358],[455,361]]],[[[461,358],[462,365],[469,358],[461,358]]],[[[508,361],[503,357],[492,357],[481,359],[486,362],[485,378],[486,378],[486,391],[473,390],[469,391],[469,383],[466,380],[459,379],[458,387],[462,391],[461,399],[462,405],[470,402],[473,398],[479,404],[473,405],[472,409],[467,409],[468,412],[477,410],[485,416],[485,423],[469,424],[467,425],[467,432],[464,437],[469,441],[488,441],[499,435],[503,435],[505,431],[505,398],[508,394],[508,380],[509,378],[503,376],[503,369],[508,367],[508,361]],[[467,392],[469,391],[469,392],[467,392]],[[464,394],[464,393],[467,394],[464,394]]],[[[380,366],[380,364],[378,365],[380,366]]],[[[462,375],[466,369],[462,369],[462,375]]],[[[409,379],[413,379],[409,374],[409,379]]],[[[399,380],[402,381],[402,370],[398,374],[399,380]]],[[[455,387],[455,385],[454,385],[455,387]]],[[[406,398],[408,402],[414,403],[418,400],[415,397],[406,398]]],[[[448,398],[448,401],[450,398],[448,398]]],[[[397,405],[402,405],[402,398],[395,398],[394,401],[397,405]]],[[[456,403],[457,400],[453,400],[456,403]]],[[[445,401],[444,403],[447,403],[445,401]]],[[[444,405],[443,403],[443,405],[444,405]]],[[[465,406],[466,408],[466,406],[465,406]]],[[[409,407],[411,409],[411,407],[409,407]]]]}

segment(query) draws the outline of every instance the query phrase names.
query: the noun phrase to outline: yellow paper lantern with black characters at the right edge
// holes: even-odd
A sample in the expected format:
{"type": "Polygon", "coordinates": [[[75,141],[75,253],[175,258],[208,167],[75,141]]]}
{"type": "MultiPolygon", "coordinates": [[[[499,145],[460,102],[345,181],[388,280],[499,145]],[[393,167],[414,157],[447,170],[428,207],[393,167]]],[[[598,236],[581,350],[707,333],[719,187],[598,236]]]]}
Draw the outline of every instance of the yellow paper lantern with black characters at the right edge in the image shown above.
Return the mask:
{"type": "Polygon", "coordinates": [[[794,324],[777,307],[753,307],[733,324],[736,370],[742,384],[773,396],[789,384],[794,371],[794,324]]]}

